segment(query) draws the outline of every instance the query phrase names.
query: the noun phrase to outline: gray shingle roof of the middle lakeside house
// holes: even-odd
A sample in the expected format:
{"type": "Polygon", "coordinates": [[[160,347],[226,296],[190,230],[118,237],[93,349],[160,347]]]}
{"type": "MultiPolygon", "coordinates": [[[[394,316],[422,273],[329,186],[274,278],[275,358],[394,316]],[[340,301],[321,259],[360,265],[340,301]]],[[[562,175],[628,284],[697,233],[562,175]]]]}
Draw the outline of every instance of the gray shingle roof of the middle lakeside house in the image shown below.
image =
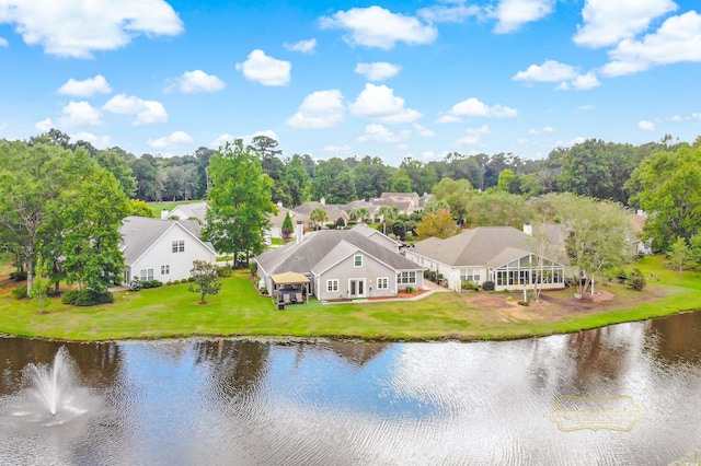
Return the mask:
{"type": "Polygon", "coordinates": [[[256,261],[265,273],[284,271],[307,273],[324,269],[347,255],[361,251],[395,270],[416,270],[423,267],[395,251],[369,240],[354,230],[320,230],[307,235],[301,243],[290,243],[277,249],[266,251],[256,261]]]}

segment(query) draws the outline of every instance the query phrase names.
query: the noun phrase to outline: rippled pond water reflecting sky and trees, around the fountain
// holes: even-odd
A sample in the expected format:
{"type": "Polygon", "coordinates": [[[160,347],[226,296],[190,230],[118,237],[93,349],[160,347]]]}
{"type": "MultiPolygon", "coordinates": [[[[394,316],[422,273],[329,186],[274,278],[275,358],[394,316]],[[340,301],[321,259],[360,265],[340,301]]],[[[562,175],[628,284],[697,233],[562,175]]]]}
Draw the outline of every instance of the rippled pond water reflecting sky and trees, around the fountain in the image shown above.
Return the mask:
{"type": "Polygon", "coordinates": [[[502,342],[67,343],[36,412],[0,339],[2,465],[666,465],[701,462],[701,313],[502,342]]]}

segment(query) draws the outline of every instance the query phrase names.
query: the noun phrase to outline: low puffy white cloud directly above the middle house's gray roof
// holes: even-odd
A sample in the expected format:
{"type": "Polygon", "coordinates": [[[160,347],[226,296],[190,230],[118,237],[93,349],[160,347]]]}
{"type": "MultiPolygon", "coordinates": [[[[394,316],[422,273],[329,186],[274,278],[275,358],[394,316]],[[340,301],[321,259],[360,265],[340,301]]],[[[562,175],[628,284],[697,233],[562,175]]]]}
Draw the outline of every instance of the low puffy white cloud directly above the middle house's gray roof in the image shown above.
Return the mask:
{"type": "Polygon", "coordinates": [[[292,128],[320,129],[337,126],[346,118],[343,94],[332,89],[312,92],[304,97],[297,113],[285,124],[292,128]]]}

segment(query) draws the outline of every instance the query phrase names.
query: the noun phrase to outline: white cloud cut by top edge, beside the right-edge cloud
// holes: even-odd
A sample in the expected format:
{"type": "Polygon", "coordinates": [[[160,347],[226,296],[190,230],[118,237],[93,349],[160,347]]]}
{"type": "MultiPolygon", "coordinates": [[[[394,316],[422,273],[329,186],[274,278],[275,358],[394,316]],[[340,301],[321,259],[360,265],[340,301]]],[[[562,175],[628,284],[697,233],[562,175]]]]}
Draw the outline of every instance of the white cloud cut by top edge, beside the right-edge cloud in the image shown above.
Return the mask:
{"type": "Polygon", "coordinates": [[[671,0],[586,0],[584,23],[573,40],[587,47],[605,47],[645,32],[657,16],[675,11],[671,0]]]}

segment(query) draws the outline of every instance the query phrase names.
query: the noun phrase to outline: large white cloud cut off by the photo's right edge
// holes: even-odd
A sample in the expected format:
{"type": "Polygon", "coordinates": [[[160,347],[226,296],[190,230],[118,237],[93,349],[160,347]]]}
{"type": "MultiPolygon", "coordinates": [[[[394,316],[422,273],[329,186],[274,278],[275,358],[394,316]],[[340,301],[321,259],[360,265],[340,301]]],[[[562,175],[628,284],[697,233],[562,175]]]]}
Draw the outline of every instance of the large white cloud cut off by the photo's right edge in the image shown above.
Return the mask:
{"type": "Polygon", "coordinates": [[[701,14],[689,11],[668,18],[642,40],[622,40],[609,51],[609,57],[612,61],[601,69],[601,73],[609,77],[631,74],[654,66],[701,62],[701,14]]]}

